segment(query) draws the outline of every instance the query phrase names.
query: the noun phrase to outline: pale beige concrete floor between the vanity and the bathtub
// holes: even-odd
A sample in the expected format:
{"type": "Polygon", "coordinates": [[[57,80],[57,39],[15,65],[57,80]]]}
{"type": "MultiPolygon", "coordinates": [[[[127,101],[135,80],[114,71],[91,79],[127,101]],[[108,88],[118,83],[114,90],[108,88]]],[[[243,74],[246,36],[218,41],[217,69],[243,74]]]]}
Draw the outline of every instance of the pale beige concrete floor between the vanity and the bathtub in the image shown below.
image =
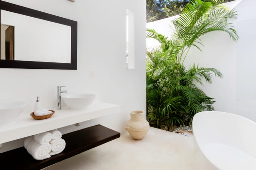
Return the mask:
{"type": "Polygon", "coordinates": [[[149,129],[142,140],[129,134],[75,155],[44,170],[206,170],[201,155],[194,152],[193,138],[149,129]]]}

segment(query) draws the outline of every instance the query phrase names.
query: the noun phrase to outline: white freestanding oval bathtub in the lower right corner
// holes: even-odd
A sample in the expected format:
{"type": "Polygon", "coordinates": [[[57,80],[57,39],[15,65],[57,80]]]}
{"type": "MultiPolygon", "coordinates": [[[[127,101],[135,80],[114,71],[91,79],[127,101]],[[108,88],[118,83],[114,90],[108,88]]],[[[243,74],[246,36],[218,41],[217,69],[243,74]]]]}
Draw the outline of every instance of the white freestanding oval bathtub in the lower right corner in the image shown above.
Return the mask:
{"type": "Polygon", "coordinates": [[[196,151],[214,169],[256,170],[254,121],[225,112],[199,112],[193,118],[193,134],[196,151]]]}

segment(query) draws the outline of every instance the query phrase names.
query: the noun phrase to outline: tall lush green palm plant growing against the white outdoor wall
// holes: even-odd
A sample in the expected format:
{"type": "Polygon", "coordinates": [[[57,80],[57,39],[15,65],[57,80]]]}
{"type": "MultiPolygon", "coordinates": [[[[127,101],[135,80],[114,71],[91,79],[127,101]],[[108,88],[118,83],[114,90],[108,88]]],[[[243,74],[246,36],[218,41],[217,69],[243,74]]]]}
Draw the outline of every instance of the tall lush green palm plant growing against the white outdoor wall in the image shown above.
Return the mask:
{"type": "Polygon", "coordinates": [[[199,50],[200,37],[212,31],[227,33],[234,41],[238,35],[228,19],[235,19],[234,10],[221,4],[223,0],[191,0],[183,13],[173,21],[174,33],[167,38],[153,29],[148,29],[147,38],[154,38],[160,46],[147,51],[146,60],[146,105],[154,127],[160,124],[189,124],[194,114],[214,110],[215,102],[197,84],[212,83],[214,76],[222,78],[215,68],[200,68],[183,65],[191,46],[199,50]]]}

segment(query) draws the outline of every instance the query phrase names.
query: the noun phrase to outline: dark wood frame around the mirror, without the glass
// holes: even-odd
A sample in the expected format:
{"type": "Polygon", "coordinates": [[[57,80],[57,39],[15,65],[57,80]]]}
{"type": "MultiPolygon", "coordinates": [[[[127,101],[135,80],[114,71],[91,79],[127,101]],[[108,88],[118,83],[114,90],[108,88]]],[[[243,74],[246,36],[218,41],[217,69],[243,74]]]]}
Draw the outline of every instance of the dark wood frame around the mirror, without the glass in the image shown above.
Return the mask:
{"type": "MultiPolygon", "coordinates": [[[[49,13],[33,10],[31,8],[11,4],[0,0],[0,10],[19,13],[22,15],[44,19],[71,27],[71,63],[36,62],[0,60],[0,68],[31,68],[31,69],[75,69],[77,68],[77,22],[51,15],[49,13]]],[[[0,13],[1,18],[1,13],[0,13]]],[[[0,19],[1,22],[1,19],[0,19]]]]}

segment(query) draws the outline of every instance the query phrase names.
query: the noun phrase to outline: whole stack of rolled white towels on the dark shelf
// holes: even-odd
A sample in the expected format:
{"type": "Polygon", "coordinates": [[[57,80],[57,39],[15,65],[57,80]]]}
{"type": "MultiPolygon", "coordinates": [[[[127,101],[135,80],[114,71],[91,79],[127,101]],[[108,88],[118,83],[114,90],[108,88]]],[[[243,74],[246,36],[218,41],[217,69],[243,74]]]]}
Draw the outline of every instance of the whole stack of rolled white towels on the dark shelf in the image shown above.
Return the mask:
{"type": "Polygon", "coordinates": [[[47,159],[51,155],[59,154],[65,149],[66,142],[61,137],[62,134],[57,129],[43,132],[25,138],[24,147],[34,159],[47,159]]]}

